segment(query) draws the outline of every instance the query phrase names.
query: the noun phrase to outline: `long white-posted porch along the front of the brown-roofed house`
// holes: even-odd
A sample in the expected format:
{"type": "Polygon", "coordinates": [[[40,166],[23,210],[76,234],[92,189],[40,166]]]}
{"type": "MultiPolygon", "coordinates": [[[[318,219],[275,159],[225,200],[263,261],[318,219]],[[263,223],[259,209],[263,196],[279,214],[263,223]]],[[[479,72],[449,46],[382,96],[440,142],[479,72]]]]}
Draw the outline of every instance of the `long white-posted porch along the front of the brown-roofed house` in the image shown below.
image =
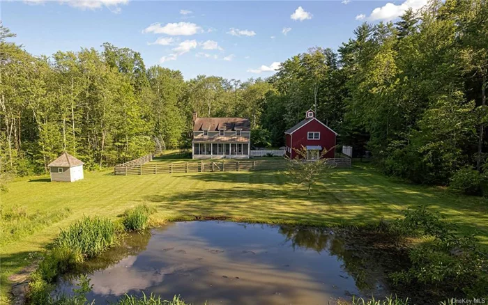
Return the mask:
{"type": "Polygon", "coordinates": [[[193,143],[193,159],[249,159],[249,143],[193,143]]]}

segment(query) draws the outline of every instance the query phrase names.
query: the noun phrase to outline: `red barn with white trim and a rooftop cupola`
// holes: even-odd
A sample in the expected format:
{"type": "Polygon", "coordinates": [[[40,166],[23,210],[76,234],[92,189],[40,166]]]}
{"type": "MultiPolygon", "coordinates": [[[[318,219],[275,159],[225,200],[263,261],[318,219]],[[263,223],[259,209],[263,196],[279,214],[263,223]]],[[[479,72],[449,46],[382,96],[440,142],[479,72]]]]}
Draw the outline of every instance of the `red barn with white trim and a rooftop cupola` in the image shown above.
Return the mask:
{"type": "Polygon", "coordinates": [[[300,150],[307,148],[307,159],[318,159],[322,150],[330,150],[324,157],[335,157],[335,138],[337,132],[315,118],[315,112],[308,110],[305,119],[284,132],[287,145],[287,157],[293,159],[297,153],[293,148],[300,150]]]}

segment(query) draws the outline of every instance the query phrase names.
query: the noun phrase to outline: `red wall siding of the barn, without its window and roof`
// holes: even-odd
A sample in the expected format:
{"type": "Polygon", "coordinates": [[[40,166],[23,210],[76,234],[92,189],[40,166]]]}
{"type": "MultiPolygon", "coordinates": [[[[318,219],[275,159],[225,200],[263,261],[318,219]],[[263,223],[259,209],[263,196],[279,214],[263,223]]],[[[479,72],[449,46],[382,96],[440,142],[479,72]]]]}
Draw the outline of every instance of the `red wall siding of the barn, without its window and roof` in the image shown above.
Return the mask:
{"type": "MultiPolygon", "coordinates": [[[[288,136],[287,134],[287,146],[288,146],[288,136]]],[[[293,141],[291,147],[296,149],[301,149],[302,146],[322,146],[330,150],[325,157],[333,158],[335,157],[335,133],[330,129],[319,123],[318,120],[312,120],[310,123],[303,125],[300,129],[296,130],[291,134],[290,141],[293,141]],[[309,140],[307,139],[307,132],[320,132],[319,140],[309,140]]],[[[296,153],[292,150],[291,158],[296,157],[296,153]]]]}

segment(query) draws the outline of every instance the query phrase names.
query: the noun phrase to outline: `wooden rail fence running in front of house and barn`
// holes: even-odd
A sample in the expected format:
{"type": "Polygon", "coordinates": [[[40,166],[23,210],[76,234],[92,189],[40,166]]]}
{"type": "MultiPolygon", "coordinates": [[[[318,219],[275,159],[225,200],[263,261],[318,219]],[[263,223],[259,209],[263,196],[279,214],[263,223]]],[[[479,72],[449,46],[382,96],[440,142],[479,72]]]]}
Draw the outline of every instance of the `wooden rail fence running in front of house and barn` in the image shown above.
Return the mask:
{"type": "MultiPolygon", "coordinates": [[[[351,159],[328,159],[335,167],[350,167],[351,159]]],[[[175,162],[117,165],[114,175],[155,175],[159,173],[204,173],[214,171],[270,171],[286,169],[287,160],[256,160],[229,162],[175,162]]]]}

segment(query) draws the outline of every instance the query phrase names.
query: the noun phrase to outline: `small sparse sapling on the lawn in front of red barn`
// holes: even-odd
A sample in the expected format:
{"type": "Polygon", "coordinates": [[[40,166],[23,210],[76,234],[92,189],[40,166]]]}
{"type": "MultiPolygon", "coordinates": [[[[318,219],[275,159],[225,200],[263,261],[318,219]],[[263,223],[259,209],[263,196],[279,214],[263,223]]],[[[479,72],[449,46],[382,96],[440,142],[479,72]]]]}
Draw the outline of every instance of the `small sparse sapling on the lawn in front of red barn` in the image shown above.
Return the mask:
{"type": "Polygon", "coordinates": [[[303,146],[300,149],[293,148],[293,150],[296,157],[290,159],[287,174],[296,184],[305,185],[310,195],[312,185],[317,183],[320,178],[325,177],[332,167],[327,163],[327,159],[323,158],[330,150],[323,149],[319,159],[314,160],[307,160],[307,148],[303,146]]]}

